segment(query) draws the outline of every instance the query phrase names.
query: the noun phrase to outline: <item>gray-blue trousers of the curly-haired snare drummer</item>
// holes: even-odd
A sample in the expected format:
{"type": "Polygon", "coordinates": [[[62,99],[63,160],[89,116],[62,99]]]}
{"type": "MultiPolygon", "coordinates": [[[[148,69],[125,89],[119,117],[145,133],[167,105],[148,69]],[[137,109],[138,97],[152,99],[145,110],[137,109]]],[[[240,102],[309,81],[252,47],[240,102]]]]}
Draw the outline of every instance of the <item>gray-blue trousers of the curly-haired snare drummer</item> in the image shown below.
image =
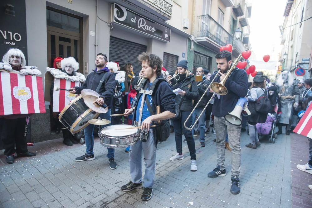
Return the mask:
{"type": "Polygon", "coordinates": [[[155,179],[156,146],[153,131],[149,130],[149,138],[146,142],[140,140],[130,147],[129,163],[130,175],[133,183],[142,183],[142,150],[145,162],[145,174],[143,187],[152,188],[155,179]]]}

